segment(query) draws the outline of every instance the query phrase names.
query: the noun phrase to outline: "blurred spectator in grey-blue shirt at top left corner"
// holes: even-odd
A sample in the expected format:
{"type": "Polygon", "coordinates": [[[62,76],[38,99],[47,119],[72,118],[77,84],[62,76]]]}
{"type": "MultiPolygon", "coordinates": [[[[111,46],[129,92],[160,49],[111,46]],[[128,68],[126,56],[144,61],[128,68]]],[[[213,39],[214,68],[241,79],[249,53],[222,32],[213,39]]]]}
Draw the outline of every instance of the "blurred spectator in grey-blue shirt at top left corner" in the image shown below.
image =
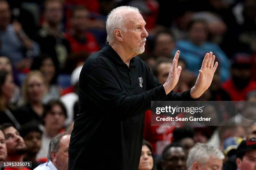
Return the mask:
{"type": "Polygon", "coordinates": [[[40,47],[23,31],[20,23],[10,23],[10,8],[6,0],[0,1],[0,53],[13,62],[18,70],[29,68],[31,57],[38,55],[40,47]]]}

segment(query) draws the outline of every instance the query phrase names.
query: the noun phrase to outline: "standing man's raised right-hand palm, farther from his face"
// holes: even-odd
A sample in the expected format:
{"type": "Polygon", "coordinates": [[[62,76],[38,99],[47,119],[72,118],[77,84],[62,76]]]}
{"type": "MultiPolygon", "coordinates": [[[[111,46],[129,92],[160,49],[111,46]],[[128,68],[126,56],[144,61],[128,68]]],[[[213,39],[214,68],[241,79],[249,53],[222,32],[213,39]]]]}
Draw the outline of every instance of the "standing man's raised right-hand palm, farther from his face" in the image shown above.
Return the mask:
{"type": "Polygon", "coordinates": [[[190,90],[192,98],[199,98],[210,87],[213,75],[218,67],[218,62],[214,64],[214,60],[215,55],[212,55],[212,52],[206,53],[195,86],[190,90]]]}

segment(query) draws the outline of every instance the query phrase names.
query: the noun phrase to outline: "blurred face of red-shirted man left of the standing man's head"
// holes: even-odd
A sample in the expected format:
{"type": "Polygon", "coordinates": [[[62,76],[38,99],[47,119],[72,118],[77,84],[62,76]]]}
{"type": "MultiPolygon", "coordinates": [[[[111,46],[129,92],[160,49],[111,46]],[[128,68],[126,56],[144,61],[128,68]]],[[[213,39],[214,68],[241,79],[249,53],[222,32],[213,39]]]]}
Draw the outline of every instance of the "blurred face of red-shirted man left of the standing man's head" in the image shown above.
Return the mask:
{"type": "Polygon", "coordinates": [[[71,19],[72,28],[75,32],[84,32],[89,24],[89,12],[84,10],[76,10],[71,19]]]}

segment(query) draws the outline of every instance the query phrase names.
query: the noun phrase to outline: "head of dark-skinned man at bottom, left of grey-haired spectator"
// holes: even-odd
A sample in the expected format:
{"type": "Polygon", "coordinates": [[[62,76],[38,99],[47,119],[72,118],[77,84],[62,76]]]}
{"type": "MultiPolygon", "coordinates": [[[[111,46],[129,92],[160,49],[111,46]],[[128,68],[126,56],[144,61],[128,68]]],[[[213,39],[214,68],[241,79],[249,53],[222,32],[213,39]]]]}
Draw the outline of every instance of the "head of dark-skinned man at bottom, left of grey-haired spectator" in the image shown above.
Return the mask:
{"type": "Polygon", "coordinates": [[[186,170],[186,158],[182,146],[172,143],[164,148],[161,167],[163,170],[186,170]]]}

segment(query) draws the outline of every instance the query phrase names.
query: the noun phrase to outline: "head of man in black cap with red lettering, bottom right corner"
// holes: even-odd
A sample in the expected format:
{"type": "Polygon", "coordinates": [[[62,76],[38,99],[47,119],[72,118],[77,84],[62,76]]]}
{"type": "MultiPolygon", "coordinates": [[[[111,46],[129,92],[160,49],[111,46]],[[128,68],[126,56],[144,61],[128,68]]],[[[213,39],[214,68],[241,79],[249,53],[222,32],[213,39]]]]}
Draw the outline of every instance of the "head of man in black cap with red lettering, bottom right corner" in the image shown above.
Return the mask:
{"type": "Polygon", "coordinates": [[[238,170],[256,169],[256,138],[240,143],[236,149],[236,165],[238,170]]]}

